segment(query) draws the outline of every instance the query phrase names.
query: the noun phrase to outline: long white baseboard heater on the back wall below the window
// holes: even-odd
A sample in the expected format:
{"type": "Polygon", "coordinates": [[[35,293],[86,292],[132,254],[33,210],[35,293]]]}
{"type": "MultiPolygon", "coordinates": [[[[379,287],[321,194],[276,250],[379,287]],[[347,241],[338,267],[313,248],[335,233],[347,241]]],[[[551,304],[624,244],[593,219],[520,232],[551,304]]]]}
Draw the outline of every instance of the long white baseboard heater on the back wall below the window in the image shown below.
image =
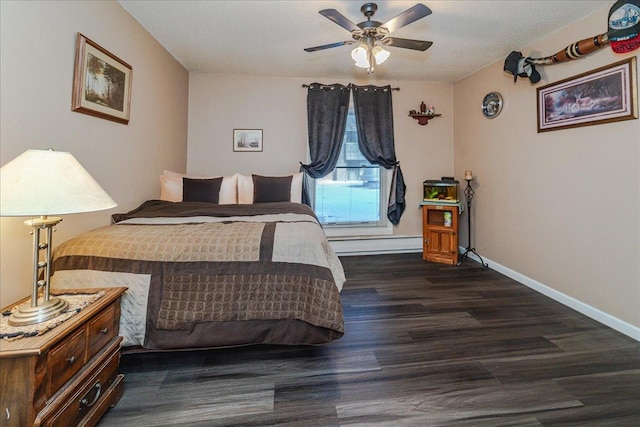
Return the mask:
{"type": "Polygon", "coordinates": [[[329,237],[339,256],[422,252],[422,236],[329,237]]]}

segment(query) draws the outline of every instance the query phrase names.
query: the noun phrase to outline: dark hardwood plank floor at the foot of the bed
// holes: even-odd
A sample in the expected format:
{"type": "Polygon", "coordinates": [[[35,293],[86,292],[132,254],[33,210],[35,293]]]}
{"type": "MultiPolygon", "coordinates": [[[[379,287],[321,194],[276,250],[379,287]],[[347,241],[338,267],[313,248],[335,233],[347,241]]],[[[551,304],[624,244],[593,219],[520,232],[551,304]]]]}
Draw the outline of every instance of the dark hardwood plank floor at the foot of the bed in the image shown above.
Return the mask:
{"type": "Polygon", "coordinates": [[[125,354],[100,426],[640,426],[639,342],[473,261],[342,261],[340,340],[125,354]]]}

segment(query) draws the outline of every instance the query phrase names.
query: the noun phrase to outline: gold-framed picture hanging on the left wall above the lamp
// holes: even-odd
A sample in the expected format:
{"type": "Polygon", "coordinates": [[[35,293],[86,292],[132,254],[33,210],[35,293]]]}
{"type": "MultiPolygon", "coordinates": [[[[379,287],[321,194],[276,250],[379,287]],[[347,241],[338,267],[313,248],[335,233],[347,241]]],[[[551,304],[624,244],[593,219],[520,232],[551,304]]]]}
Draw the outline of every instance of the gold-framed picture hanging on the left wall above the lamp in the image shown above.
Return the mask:
{"type": "Polygon", "coordinates": [[[132,71],[129,64],[78,33],[71,110],[128,124],[132,71]]]}

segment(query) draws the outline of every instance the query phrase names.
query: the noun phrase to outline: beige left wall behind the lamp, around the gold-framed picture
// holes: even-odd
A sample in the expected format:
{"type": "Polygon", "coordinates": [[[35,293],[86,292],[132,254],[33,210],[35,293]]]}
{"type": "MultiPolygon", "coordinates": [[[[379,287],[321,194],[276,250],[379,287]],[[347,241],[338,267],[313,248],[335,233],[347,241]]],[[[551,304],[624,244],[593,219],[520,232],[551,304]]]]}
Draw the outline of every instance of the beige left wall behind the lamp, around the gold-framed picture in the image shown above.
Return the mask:
{"type": "MultiPolygon", "coordinates": [[[[0,2],[0,163],[29,148],[71,152],[118,203],[69,215],[54,244],[159,196],[162,169],[186,167],[186,70],[114,1],[0,2]],[[76,33],[133,67],[128,125],[71,111],[76,33]]],[[[25,218],[0,220],[0,305],[30,295],[25,218]]]]}

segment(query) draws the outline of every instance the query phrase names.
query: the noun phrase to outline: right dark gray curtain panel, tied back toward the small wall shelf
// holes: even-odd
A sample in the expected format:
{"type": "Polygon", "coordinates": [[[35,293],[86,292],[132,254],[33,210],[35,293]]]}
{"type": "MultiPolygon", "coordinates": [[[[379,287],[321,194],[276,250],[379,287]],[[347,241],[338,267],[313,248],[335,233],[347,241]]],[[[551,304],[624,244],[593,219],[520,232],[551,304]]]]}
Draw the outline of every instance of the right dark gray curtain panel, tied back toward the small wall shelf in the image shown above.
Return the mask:
{"type": "Polygon", "coordinates": [[[404,196],[407,186],[404,183],[400,162],[396,159],[391,87],[351,87],[360,151],[371,163],[385,169],[393,169],[387,218],[393,225],[398,225],[406,206],[404,196]]]}

